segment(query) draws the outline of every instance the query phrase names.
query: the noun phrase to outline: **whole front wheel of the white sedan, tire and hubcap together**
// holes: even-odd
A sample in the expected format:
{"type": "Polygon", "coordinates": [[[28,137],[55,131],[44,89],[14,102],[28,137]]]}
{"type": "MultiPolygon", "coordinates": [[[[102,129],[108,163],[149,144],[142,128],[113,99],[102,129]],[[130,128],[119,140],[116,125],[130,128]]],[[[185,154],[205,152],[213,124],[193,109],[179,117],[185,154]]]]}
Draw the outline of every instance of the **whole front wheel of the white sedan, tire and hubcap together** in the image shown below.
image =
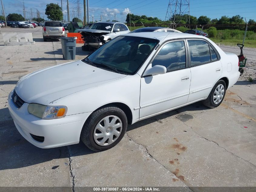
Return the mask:
{"type": "Polygon", "coordinates": [[[81,140],[94,151],[114,147],[125,135],[127,117],[115,106],[101,108],[92,113],[81,131],[81,140]]]}

